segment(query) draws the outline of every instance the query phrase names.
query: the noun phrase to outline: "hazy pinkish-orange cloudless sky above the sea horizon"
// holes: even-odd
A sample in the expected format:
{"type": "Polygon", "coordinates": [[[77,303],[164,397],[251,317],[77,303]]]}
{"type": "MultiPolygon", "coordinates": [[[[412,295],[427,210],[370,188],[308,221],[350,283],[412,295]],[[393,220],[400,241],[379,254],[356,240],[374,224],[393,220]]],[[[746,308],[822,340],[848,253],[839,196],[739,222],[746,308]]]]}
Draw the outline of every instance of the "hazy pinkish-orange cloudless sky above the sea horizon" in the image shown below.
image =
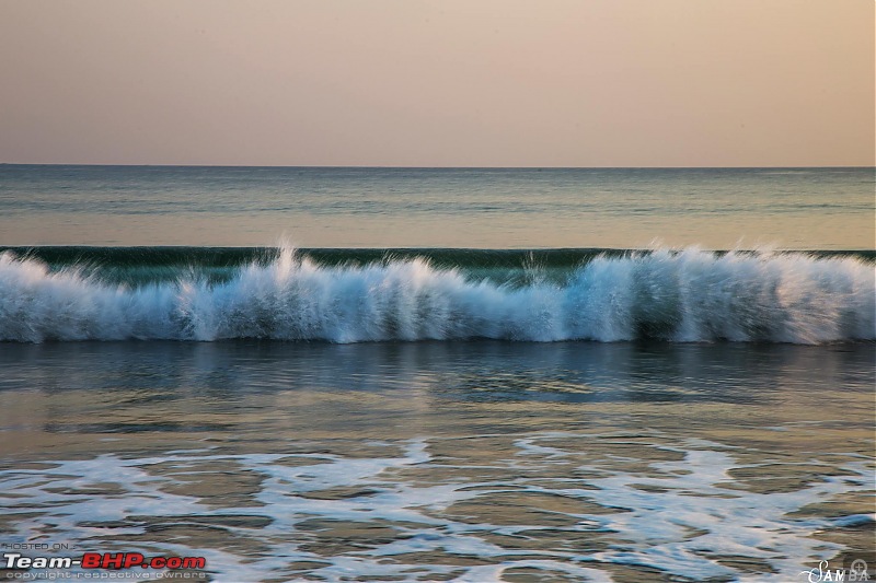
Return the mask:
{"type": "Polygon", "coordinates": [[[873,0],[0,0],[0,162],[874,165],[873,0]]]}

